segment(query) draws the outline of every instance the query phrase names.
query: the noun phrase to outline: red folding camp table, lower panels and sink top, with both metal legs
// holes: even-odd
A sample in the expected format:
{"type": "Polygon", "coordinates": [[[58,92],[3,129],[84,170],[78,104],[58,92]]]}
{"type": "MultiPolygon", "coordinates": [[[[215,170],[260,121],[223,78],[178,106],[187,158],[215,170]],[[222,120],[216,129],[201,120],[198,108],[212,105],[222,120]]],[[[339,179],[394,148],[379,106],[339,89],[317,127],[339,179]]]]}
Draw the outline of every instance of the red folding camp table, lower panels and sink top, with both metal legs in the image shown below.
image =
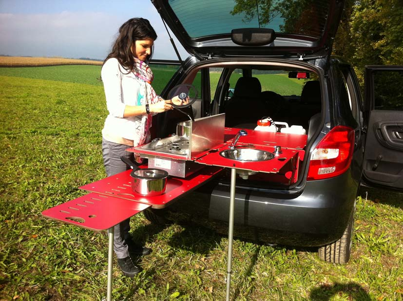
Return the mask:
{"type": "Polygon", "coordinates": [[[113,227],[120,222],[134,216],[146,208],[163,208],[170,202],[183,196],[185,193],[206,183],[222,169],[231,169],[230,184],[230,217],[229,217],[229,246],[227,262],[227,290],[226,300],[230,298],[230,279],[232,268],[232,243],[233,243],[233,212],[235,202],[236,169],[260,171],[264,173],[278,173],[287,164],[293,169],[290,176],[290,183],[296,181],[294,171],[298,169],[300,158],[305,155],[307,135],[282,134],[272,132],[248,131],[239,141],[240,146],[253,147],[263,151],[273,151],[274,146],[281,145],[282,153],[268,161],[245,162],[225,159],[220,152],[228,149],[230,139],[239,129],[225,129],[226,143],[216,146],[210,151],[201,153],[194,162],[206,165],[201,170],[186,178],[169,177],[166,191],[158,196],[144,197],[134,194],[131,189],[131,170],[127,170],[80,187],[80,189],[91,193],[81,196],[75,200],[68,201],[56,207],[42,212],[42,215],[70,225],[86,229],[101,231],[108,230],[108,288],[107,301],[112,300],[112,268],[113,268],[113,227]],[[287,146],[287,147],[285,147],[287,146]]]}

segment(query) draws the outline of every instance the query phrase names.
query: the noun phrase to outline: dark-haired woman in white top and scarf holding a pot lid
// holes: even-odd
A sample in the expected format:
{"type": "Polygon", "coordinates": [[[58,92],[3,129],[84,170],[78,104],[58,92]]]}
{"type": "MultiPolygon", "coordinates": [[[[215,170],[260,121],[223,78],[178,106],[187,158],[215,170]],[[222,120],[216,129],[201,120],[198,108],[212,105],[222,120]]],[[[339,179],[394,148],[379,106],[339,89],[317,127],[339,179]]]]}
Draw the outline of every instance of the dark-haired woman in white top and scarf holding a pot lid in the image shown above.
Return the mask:
{"type": "MultiPolygon", "coordinates": [[[[133,18],[119,28],[119,36],[106,57],[101,71],[109,115],[102,130],[102,154],[108,176],[128,170],[120,160],[131,160],[129,147],[149,140],[152,116],[172,110],[172,100],[159,98],[151,82],[154,75],[147,62],[153,53],[157,35],[147,19],[133,18]]],[[[176,99],[175,99],[176,100],[176,99]]],[[[140,163],[141,159],[135,156],[140,163]]],[[[114,228],[114,251],[123,274],[133,277],[140,271],[131,257],[147,255],[151,249],[130,239],[130,219],[114,228]]]]}

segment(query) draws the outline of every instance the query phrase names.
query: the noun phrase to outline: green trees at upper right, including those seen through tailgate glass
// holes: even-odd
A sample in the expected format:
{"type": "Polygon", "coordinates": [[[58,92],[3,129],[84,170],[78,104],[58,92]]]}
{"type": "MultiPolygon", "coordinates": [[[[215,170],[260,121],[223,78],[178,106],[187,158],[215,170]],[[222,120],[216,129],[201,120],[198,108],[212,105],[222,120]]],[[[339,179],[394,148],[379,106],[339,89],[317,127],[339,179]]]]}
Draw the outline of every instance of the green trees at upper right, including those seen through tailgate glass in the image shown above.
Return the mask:
{"type": "MultiPolygon", "coordinates": [[[[328,9],[326,0],[235,0],[231,14],[257,17],[259,26],[280,17],[281,32],[315,36],[328,9]]],[[[365,65],[403,65],[403,0],[345,0],[332,53],[354,67],[361,84],[365,65]]]]}

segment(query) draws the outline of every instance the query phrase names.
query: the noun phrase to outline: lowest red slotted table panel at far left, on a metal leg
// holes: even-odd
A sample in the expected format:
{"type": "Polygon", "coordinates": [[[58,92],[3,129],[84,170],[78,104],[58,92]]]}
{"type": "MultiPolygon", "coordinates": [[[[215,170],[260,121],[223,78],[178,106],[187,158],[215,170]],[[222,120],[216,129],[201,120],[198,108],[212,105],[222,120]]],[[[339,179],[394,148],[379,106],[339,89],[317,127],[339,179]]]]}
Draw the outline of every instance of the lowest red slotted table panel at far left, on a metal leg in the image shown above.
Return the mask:
{"type": "Polygon", "coordinates": [[[101,231],[109,229],[150,205],[98,193],[89,193],[77,199],[49,208],[42,215],[63,223],[101,231]]]}

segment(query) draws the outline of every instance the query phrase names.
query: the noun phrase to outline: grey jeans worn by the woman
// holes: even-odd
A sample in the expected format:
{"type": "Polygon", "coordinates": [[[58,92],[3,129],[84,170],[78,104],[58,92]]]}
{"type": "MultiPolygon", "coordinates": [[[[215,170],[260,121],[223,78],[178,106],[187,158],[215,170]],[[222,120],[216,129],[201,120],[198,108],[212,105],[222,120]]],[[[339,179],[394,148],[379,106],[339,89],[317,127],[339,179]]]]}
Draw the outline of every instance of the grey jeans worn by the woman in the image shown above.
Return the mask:
{"type": "MultiPolygon", "coordinates": [[[[102,138],[102,157],[107,176],[115,175],[130,169],[122,160],[121,156],[127,157],[134,162],[134,154],[125,151],[129,147],[117,144],[102,138]]],[[[124,220],[114,227],[114,251],[117,258],[129,256],[128,246],[125,242],[130,237],[130,219],[124,220]]]]}

